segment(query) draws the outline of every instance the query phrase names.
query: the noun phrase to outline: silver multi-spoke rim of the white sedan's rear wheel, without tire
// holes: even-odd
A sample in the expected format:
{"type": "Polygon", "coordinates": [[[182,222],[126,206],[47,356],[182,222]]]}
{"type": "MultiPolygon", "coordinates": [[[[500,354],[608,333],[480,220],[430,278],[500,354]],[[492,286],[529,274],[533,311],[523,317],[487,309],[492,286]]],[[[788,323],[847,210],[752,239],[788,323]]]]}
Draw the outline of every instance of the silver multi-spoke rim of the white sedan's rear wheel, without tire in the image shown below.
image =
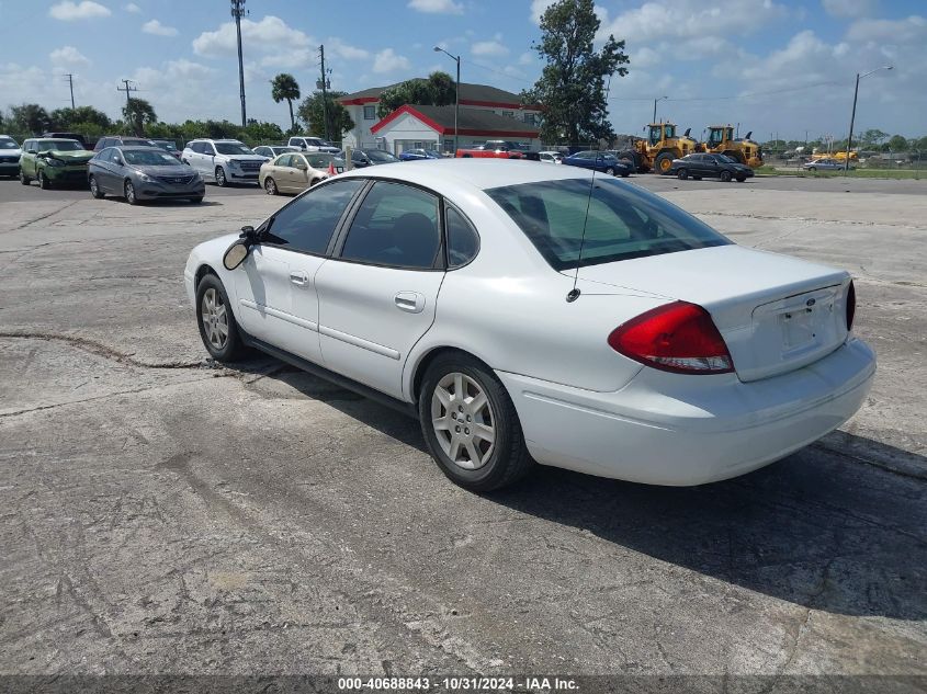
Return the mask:
{"type": "Polygon", "coordinates": [[[445,374],[431,395],[431,425],[444,455],[466,470],[479,469],[496,445],[496,418],[483,387],[460,372],[445,374]]]}

